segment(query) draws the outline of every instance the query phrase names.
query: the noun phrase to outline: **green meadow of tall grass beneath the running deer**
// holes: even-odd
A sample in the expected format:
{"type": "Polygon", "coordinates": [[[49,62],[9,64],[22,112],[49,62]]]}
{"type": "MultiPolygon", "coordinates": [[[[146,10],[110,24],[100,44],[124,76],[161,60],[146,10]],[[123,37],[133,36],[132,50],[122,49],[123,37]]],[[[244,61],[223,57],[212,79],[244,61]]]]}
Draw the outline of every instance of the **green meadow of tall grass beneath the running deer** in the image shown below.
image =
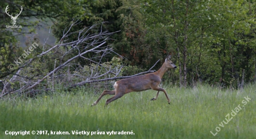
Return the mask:
{"type": "Polygon", "coordinates": [[[4,98],[0,100],[0,139],[256,139],[255,85],[242,91],[210,86],[166,91],[171,105],[164,93],[150,101],[156,95],[153,90],[126,94],[105,108],[111,96],[91,107],[100,94],[93,95],[89,89],[42,94],[36,99],[4,98]],[[30,135],[6,134],[18,131],[30,135]],[[58,135],[59,131],[69,135],[58,135]],[[73,134],[76,131],[89,134],[73,134]],[[112,131],[117,134],[108,135],[112,131]]]}

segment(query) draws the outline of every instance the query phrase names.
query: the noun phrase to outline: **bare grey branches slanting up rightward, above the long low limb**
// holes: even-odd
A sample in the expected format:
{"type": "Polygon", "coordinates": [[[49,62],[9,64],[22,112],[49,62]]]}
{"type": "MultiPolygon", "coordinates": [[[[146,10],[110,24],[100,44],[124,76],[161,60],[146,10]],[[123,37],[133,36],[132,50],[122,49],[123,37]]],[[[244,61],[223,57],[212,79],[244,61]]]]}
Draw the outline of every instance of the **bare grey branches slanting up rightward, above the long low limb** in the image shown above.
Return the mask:
{"type": "MultiPolygon", "coordinates": [[[[77,24],[79,24],[81,21],[79,20],[76,20],[76,21],[72,21],[72,24],[70,25],[70,27],[68,29],[65,29],[63,31],[63,36],[61,38],[61,40],[59,41],[59,43],[55,46],[52,46],[51,48],[49,49],[45,49],[45,45],[43,45],[43,52],[38,54],[35,58],[33,59],[30,59],[28,60],[27,62],[25,62],[25,64],[23,64],[22,66],[20,66],[18,68],[18,71],[16,74],[13,75],[13,77],[11,79],[9,79],[9,82],[3,82],[4,83],[4,89],[2,90],[1,94],[0,94],[0,98],[5,96],[6,94],[8,93],[21,93],[21,92],[24,92],[24,91],[27,91],[27,90],[31,90],[33,89],[35,86],[39,85],[43,80],[47,79],[47,78],[52,78],[52,82],[54,83],[55,79],[53,78],[56,78],[58,79],[58,74],[56,74],[56,76],[54,77],[53,74],[57,73],[59,70],[63,69],[63,67],[66,67],[66,66],[71,66],[70,65],[70,62],[71,61],[74,61],[75,59],[81,57],[85,60],[89,60],[93,63],[96,63],[97,66],[100,66],[101,68],[98,68],[97,67],[97,70],[100,69],[100,72],[103,69],[105,69],[105,73],[103,74],[99,74],[98,72],[95,72],[91,74],[90,77],[87,77],[85,76],[85,78],[88,79],[97,79],[97,78],[101,78],[101,77],[104,77],[105,75],[108,75],[108,74],[112,74],[113,72],[115,72],[116,70],[114,69],[111,69],[111,67],[105,67],[103,66],[101,63],[99,62],[96,62],[95,60],[97,59],[96,57],[92,57],[92,58],[87,58],[85,56],[83,56],[84,54],[86,53],[101,53],[101,57],[99,57],[99,59],[102,59],[102,57],[106,56],[107,54],[109,53],[113,53],[113,50],[111,48],[109,48],[108,45],[106,45],[106,41],[107,40],[110,40],[109,36],[112,35],[113,33],[108,33],[107,31],[102,31],[102,25],[101,25],[101,29],[99,31],[99,33],[93,33],[93,34],[90,34],[89,31],[90,30],[95,30],[97,28],[98,25],[93,25],[93,26],[90,26],[90,27],[85,27],[83,29],[81,29],[80,31],[78,32],[73,32],[71,33],[71,28],[77,24]],[[74,40],[74,41],[70,41],[68,39],[68,36],[74,34],[74,33],[77,33],[77,40],[74,40]],[[62,61],[62,59],[60,60],[60,65],[57,66],[56,68],[53,69],[53,71],[50,71],[49,73],[47,73],[46,75],[44,75],[42,78],[38,79],[37,81],[34,81],[33,79],[25,79],[24,76],[22,77],[22,75],[20,75],[20,71],[21,71],[21,68],[26,68],[29,64],[31,64],[36,58],[39,58],[43,55],[46,55],[47,53],[49,52],[52,52],[54,49],[58,49],[60,47],[64,47],[66,48],[66,52],[63,53],[62,55],[62,58],[68,56],[69,54],[74,54],[74,53],[77,53],[77,50],[78,50],[78,53],[67,59],[66,61],[62,61]],[[75,52],[75,51],[76,52],[75,52]],[[95,60],[93,60],[95,59],[95,60]],[[62,63],[63,62],[63,63],[62,63]],[[19,77],[20,79],[17,79],[16,81],[18,80],[22,80],[22,83],[24,86],[20,87],[19,89],[17,90],[9,90],[7,89],[8,87],[7,86],[10,86],[10,83],[13,82],[15,80],[15,78],[19,77]]],[[[103,24],[103,23],[102,23],[103,24]]],[[[45,41],[46,42],[46,41],[45,41]]],[[[65,49],[64,49],[65,50],[65,49]]],[[[101,60],[100,60],[101,61],[101,60]]],[[[121,70],[121,69],[120,69],[121,70]]],[[[120,72],[120,71],[119,71],[120,72]]],[[[74,76],[72,74],[69,74],[68,76],[74,76]]],[[[62,82],[62,81],[61,81],[62,82]]],[[[52,87],[53,88],[53,87],[52,87]]],[[[29,92],[29,91],[28,91],[29,92]]]]}

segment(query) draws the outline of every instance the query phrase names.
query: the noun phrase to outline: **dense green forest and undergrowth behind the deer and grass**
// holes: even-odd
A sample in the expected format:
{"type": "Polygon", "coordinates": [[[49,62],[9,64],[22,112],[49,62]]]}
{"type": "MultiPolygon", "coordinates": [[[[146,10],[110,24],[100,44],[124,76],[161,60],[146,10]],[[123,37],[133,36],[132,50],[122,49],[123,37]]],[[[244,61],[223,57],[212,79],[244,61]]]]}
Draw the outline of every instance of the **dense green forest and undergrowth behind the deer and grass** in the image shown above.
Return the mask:
{"type": "MultiPolygon", "coordinates": [[[[51,71],[53,73],[37,86],[39,90],[69,88],[88,79],[89,74],[103,72],[98,71],[97,64],[121,67],[115,77],[147,71],[160,60],[154,66],[158,70],[169,53],[178,68],[163,77],[168,85],[186,87],[206,83],[239,88],[244,83],[256,82],[255,0],[1,0],[0,34],[2,95],[31,89],[31,83],[51,71]],[[7,5],[13,15],[23,7],[16,21],[22,28],[6,27],[11,25],[7,5]],[[92,43],[86,40],[76,49],[67,44],[39,57],[46,49],[62,43],[63,34],[75,20],[79,23],[72,26],[65,40],[75,41],[78,39],[75,33],[94,26],[87,28],[85,34],[113,33],[106,37],[104,44],[104,48],[111,51],[89,52],[73,60],[73,65],[61,66],[63,61],[82,53],[84,47],[92,43]],[[27,37],[27,47],[21,47],[24,44],[20,44],[19,36],[42,33],[35,30],[42,24],[53,33],[56,43],[47,42],[49,34],[45,33],[45,40],[37,35],[27,37]],[[9,65],[34,42],[39,47],[26,58],[27,61],[33,59],[33,63],[24,62],[10,70],[9,65]],[[74,51],[67,55],[68,50],[74,51]],[[63,68],[56,72],[58,66],[63,68]]],[[[104,74],[100,78],[107,77],[104,74]]]]}

